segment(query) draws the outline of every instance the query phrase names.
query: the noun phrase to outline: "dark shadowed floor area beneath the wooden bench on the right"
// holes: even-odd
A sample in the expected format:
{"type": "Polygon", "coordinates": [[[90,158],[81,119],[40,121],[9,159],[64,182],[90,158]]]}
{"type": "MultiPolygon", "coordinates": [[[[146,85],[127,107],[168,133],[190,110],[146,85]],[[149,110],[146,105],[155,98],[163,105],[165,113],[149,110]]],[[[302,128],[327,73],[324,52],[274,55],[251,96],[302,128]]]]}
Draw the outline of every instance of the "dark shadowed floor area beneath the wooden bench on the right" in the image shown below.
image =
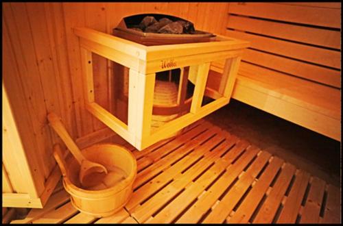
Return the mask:
{"type": "Polygon", "coordinates": [[[337,140],[235,99],[206,119],[252,145],[340,186],[341,143],[337,140]]]}

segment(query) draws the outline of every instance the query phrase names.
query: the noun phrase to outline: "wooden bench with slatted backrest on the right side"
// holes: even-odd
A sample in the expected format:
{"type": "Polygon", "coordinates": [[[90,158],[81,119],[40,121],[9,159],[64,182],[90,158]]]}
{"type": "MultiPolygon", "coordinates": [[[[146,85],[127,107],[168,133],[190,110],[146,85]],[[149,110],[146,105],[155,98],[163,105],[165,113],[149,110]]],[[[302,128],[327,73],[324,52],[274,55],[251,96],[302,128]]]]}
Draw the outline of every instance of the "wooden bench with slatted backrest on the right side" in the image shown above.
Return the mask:
{"type": "MultiPolygon", "coordinates": [[[[233,98],[340,141],[340,10],[340,3],[230,3],[226,36],[251,42],[233,98]]],[[[212,74],[222,65],[212,64],[212,74]]]]}

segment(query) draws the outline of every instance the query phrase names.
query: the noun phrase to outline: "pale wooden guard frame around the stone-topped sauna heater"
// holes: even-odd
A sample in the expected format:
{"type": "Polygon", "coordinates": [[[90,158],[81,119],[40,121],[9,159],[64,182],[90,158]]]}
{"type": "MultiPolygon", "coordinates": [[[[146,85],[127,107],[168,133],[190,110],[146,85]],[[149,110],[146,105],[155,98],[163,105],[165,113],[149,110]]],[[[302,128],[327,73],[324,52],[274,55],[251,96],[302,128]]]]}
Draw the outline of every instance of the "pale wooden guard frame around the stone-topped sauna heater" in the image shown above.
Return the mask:
{"type": "Polygon", "coordinates": [[[216,36],[213,42],[146,47],[84,27],[74,28],[80,38],[85,108],[139,150],[148,147],[226,105],[233,92],[241,55],[249,42],[216,36]],[[128,125],[95,103],[92,53],[130,68],[128,125]],[[202,106],[211,62],[224,60],[222,95],[202,106]],[[167,68],[165,68],[167,64],[167,68]],[[189,66],[196,79],[191,110],[151,132],[156,73],[189,66]]]}

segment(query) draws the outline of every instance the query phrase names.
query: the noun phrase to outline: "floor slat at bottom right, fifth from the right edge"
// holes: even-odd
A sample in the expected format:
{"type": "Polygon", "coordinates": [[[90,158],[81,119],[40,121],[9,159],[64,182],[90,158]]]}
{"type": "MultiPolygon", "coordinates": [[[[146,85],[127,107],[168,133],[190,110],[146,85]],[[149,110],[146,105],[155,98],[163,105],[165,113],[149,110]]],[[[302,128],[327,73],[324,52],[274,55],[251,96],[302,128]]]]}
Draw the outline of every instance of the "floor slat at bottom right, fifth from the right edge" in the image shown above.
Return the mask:
{"type": "Polygon", "coordinates": [[[270,183],[274,179],[276,173],[279,171],[283,164],[283,160],[274,157],[270,165],[265,169],[263,175],[259,177],[254,187],[250,190],[249,194],[244,198],[243,203],[235,210],[235,214],[227,222],[228,223],[248,223],[253,212],[259,205],[265,192],[267,192],[270,183]]]}

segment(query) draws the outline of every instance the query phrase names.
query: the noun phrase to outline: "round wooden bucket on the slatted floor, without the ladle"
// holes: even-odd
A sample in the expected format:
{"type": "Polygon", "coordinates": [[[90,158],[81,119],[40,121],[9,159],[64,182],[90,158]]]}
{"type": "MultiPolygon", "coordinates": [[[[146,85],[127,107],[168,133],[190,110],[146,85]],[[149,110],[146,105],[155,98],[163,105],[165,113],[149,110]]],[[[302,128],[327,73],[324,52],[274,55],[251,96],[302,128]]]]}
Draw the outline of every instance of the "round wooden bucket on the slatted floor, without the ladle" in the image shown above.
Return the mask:
{"type": "Polygon", "coordinates": [[[80,166],[72,156],[67,159],[67,177],[63,186],[71,195],[72,205],[96,217],[110,216],[123,208],[132,194],[133,181],[137,176],[137,162],[127,149],[113,144],[93,145],[82,150],[84,156],[106,166],[113,177],[97,187],[81,187],[78,174],[80,166]]]}

